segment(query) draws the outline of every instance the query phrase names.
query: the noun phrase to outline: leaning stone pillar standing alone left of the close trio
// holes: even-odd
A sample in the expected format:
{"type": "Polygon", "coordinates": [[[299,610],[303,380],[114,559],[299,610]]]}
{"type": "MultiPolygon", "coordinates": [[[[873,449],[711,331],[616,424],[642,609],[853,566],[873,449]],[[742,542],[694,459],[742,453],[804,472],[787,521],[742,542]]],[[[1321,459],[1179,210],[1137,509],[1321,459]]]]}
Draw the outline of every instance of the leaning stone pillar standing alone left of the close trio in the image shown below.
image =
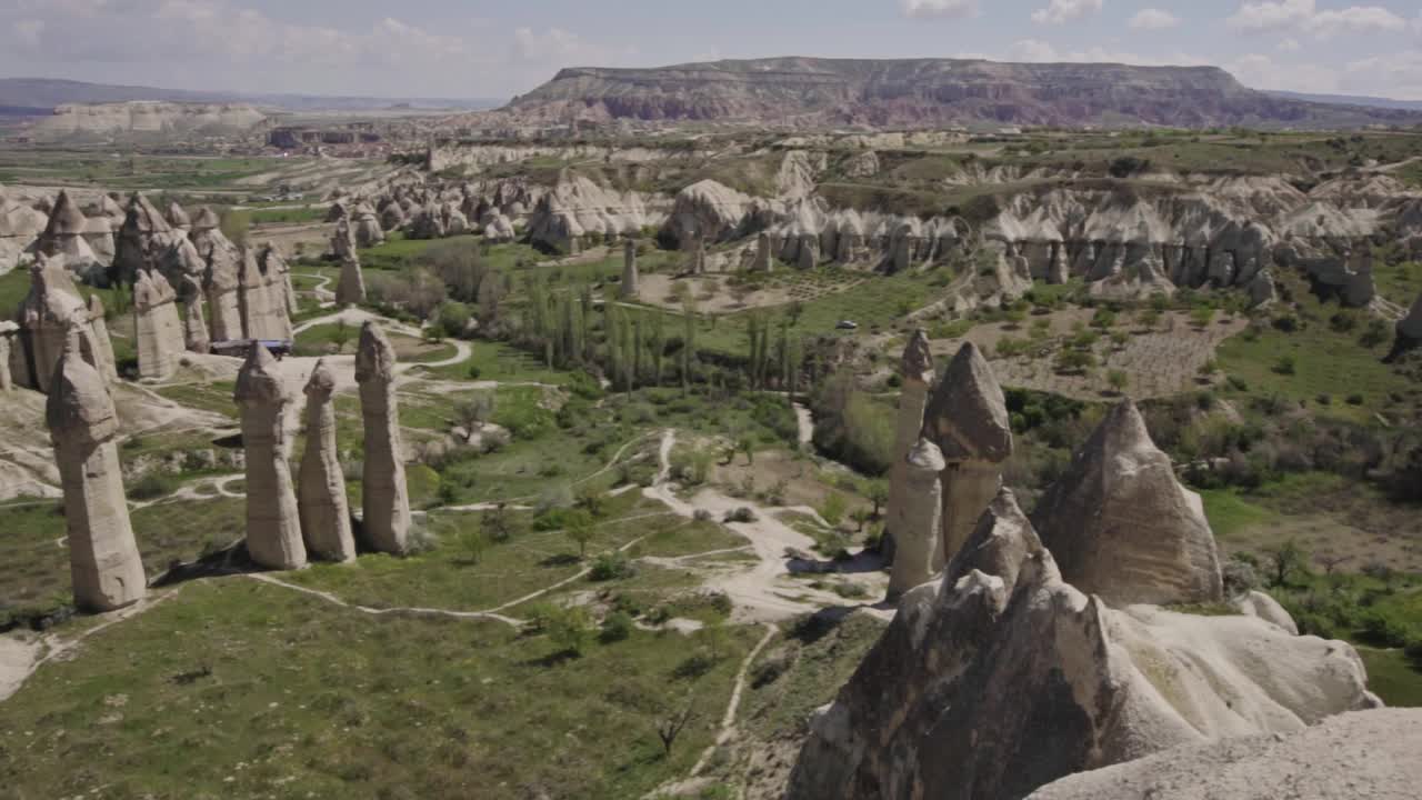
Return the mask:
{"type": "Polygon", "coordinates": [[[54,369],[44,416],[64,488],[74,604],[104,612],[138,602],[148,579],[114,441],[118,411],[104,376],[80,354],[77,332],[54,369]]]}

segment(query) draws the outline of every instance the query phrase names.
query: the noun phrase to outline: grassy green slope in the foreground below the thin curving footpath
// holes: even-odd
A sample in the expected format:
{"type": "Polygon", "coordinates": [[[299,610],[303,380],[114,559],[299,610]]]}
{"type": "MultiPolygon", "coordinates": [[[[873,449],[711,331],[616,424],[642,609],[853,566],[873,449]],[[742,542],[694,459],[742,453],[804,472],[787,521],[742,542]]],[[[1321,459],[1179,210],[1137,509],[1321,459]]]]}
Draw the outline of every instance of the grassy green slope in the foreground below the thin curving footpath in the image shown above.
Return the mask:
{"type": "Polygon", "coordinates": [[[199,582],[7,700],[0,779],[13,797],[638,797],[712,740],[758,635],[711,659],[633,631],[570,658],[496,622],[199,582]],[[667,757],[657,725],[687,703],[667,757]]]}

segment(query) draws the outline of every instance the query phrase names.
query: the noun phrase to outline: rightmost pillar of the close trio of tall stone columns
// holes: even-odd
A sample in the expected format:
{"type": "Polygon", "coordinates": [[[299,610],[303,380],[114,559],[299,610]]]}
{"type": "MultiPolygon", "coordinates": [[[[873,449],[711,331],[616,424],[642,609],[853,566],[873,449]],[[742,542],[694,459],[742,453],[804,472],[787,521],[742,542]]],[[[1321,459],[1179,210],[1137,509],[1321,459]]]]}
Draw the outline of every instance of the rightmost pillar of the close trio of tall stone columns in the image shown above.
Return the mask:
{"type": "Polygon", "coordinates": [[[361,326],[356,381],[365,427],[361,530],[371,548],[404,554],[410,538],[410,490],[401,460],[395,349],[373,322],[361,326]]]}

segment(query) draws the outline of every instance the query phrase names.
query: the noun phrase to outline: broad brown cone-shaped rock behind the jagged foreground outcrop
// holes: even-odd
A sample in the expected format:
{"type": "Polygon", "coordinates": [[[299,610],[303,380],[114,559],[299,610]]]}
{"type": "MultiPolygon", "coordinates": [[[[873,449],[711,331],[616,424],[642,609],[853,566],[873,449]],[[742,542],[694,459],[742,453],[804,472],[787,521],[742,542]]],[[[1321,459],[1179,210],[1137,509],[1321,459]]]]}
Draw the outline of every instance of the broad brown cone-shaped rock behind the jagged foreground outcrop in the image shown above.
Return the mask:
{"type": "Polygon", "coordinates": [[[1176,480],[1130,400],[1086,440],[1032,522],[1062,578],[1112,606],[1223,599],[1200,495],[1176,480]]]}

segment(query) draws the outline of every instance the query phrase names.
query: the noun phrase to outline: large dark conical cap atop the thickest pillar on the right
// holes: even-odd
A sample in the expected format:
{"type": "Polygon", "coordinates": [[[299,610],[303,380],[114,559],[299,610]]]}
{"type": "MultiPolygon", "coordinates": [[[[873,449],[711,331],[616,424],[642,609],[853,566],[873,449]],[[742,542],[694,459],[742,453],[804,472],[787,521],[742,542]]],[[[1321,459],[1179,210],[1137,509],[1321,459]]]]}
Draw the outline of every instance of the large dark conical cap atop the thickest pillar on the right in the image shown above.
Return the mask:
{"type": "Polygon", "coordinates": [[[1007,399],[993,367],[971,342],[948,363],[923,426],[950,463],[1001,463],[1012,454],[1007,399]]]}

